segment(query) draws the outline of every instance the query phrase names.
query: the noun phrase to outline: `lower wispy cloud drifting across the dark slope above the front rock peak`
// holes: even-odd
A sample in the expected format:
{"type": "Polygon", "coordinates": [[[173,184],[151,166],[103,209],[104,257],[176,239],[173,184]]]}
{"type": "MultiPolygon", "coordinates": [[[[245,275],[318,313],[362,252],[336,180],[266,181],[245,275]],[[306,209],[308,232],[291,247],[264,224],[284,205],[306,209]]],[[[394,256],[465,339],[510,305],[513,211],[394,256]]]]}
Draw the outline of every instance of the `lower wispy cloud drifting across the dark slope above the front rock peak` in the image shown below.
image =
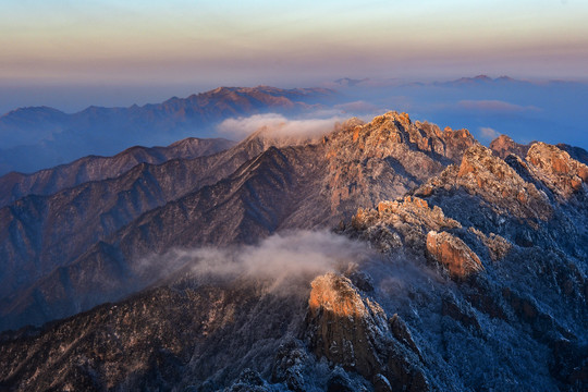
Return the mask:
{"type": "Polygon", "coordinates": [[[270,290],[290,292],[289,287],[307,285],[319,274],[362,264],[370,255],[366,244],[328,231],[292,231],[257,245],[174,249],[142,265],[164,274],[182,270],[201,278],[262,280],[270,290]]]}

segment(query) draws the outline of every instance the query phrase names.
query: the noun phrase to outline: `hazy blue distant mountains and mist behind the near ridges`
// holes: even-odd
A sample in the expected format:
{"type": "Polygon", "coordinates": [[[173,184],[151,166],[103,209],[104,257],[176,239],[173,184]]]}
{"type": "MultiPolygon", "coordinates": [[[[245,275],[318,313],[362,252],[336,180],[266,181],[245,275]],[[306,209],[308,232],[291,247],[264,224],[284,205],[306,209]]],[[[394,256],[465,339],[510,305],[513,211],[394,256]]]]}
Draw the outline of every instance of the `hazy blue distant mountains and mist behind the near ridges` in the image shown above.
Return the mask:
{"type": "Polygon", "coordinates": [[[478,75],[445,82],[340,78],[326,87],[219,87],[160,103],[88,107],[65,113],[49,107],[0,115],[0,175],[33,173],[88,155],[111,156],[135,145],[164,146],[186,137],[238,137],[223,121],[259,114],[289,120],[365,121],[391,109],[452,127],[467,127],[482,144],[500,134],[588,148],[581,82],[523,81],[478,75]],[[559,130],[566,135],[560,139],[559,130]]]}

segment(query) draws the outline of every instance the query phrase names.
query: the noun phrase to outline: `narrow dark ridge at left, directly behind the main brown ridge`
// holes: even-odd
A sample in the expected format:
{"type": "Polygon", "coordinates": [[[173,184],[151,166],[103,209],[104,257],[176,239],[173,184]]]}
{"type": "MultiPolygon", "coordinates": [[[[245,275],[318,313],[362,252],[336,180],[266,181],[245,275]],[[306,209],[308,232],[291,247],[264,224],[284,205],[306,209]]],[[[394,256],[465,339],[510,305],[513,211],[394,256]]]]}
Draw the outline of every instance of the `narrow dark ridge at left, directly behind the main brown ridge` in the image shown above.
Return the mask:
{"type": "Polygon", "coordinates": [[[12,172],[0,176],[0,207],[27,195],[51,195],[88,181],[112,179],[139,163],[159,164],[171,159],[205,157],[234,145],[235,142],[223,138],[189,137],[168,147],[135,146],[113,157],[89,156],[33,174],[12,172]]]}

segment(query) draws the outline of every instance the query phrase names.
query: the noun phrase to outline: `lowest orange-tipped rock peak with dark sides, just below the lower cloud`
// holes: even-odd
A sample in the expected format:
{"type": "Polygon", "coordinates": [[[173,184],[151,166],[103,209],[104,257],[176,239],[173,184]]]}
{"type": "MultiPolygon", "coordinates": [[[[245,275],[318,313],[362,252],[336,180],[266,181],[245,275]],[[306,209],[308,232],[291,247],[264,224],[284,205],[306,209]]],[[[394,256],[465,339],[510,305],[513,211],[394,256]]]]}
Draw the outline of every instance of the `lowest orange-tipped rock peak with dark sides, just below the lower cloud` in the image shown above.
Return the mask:
{"type": "Polygon", "coordinates": [[[406,326],[388,321],[381,306],[363,297],[345,277],[316,278],[308,299],[310,348],[318,357],[354,370],[384,391],[428,391],[406,326]],[[395,335],[394,338],[392,328],[395,335]]]}

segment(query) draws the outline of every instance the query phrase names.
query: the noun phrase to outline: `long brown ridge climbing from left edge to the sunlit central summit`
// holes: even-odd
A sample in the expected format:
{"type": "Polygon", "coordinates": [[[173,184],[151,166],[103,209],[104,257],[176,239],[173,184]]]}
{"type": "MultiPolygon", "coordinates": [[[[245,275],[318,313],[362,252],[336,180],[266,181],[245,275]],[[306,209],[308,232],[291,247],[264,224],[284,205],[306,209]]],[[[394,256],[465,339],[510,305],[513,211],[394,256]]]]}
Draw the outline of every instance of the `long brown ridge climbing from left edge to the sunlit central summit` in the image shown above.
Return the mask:
{"type": "Polygon", "coordinates": [[[368,124],[352,120],[316,140],[283,143],[259,132],[226,152],[191,161],[191,166],[207,168],[208,177],[197,174],[201,169],[188,171],[187,174],[176,173],[173,166],[137,167],[112,180],[124,181],[122,187],[88,183],[41,199],[41,207],[38,198],[30,197],[0,210],[8,222],[0,228],[0,252],[7,254],[7,259],[15,260],[8,268],[14,272],[5,274],[4,282],[5,286],[12,284],[11,291],[16,293],[7,297],[2,306],[2,327],[40,323],[120,298],[136,290],[139,283],[132,282],[151,279],[150,273],[146,278],[145,271],[136,270],[137,264],[151,254],[173,247],[254,243],[287,229],[334,226],[348,219],[357,207],[401,196],[440,173],[461,159],[463,150],[475,140],[465,130],[440,131],[436,125],[413,123],[406,114],[392,112],[368,124]],[[256,143],[264,148],[249,155],[249,161],[232,173],[219,171],[208,161],[224,162],[224,158],[218,157],[249,151],[252,148],[246,146],[256,143]],[[270,145],[273,147],[267,148],[270,145]],[[156,174],[151,173],[154,169],[156,174]],[[144,171],[149,175],[142,175],[144,171]],[[145,188],[152,179],[160,187],[161,183],[171,186],[173,197],[160,196],[157,187],[145,188]],[[109,196],[102,195],[106,191],[96,192],[87,186],[103,186],[109,196]],[[145,196],[128,195],[133,186],[145,196]],[[120,192],[112,193],[119,187],[120,192]],[[79,226],[53,223],[53,219],[69,222],[61,211],[71,210],[82,189],[88,195],[82,200],[88,203],[77,208],[79,212],[86,211],[88,218],[82,218],[79,226]],[[97,204],[98,198],[111,201],[97,204]],[[130,207],[123,203],[121,210],[120,198],[128,200],[130,207]],[[133,200],[139,200],[139,206],[133,200]],[[23,203],[28,205],[22,206],[23,203]],[[29,218],[29,208],[40,212],[29,218]],[[125,219],[121,220],[121,216],[125,219]],[[111,223],[114,218],[119,220],[111,223]],[[96,223],[88,225],[90,219],[96,223]],[[53,234],[58,230],[59,234],[53,234]],[[15,241],[21,237],[30,241],[15,241]],[[64,242],[71,245],[65,246],[64,242]],[[29,268],[23,271],[16,265],[29,268]],[[38,265],[46,266],[41,272],[38,265]],[[56,267],[60,268],[53,270],[56,267]],[[36,274],[30,279],[33,273],[36,274]],[[19,277],[17,282],[26,282],[17,291],[12,283],[14,277],[19,277]]]}

